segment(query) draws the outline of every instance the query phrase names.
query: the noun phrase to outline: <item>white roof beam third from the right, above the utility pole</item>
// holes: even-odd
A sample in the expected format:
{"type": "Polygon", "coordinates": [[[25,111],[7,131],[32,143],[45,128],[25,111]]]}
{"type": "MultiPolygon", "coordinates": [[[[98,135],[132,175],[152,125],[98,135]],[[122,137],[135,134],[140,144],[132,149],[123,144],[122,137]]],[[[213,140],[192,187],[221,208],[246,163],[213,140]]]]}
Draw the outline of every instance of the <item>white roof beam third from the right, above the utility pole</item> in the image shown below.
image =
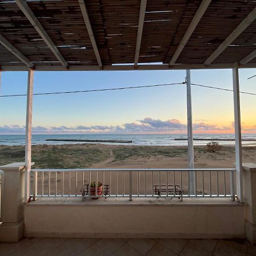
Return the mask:
{"type": "Polygon", "coordinates": [[[172,59],[169,63],[170,66],[173,66],[177,60],[177,58],[180,56],[180,53],[182,52],[183,48],[187,44],[189,38],[191,37],[193,31],[195,30],[197,24],[200,22],[200,19],[203,17],[205,11],[207,10],[210,2],[212,0],[203,0],[201,2],[201,5],[199,6],[199,9],[196,11],[195,16],[193,17],[191,23],[189,24],[189,27],[187,31],[185,32],[183,38],[181,39],[179,46],[177,47],[174,55],[172,56],[172,59]]]}

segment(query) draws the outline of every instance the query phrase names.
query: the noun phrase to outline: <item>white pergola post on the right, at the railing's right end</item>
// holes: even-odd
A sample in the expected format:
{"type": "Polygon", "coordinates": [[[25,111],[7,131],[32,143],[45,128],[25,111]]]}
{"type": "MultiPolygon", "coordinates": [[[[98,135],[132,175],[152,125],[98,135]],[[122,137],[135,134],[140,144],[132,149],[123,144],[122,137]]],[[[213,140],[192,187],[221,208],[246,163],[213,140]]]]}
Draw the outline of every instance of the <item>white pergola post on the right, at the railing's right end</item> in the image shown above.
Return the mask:
{"type": "Polygon", "coordinates": [[[236,139],[236,169],[237,169],[237,200],[243,201],[242,176],[242,142],[241,142],[241,114],[238,63],[233,68],[233,96],[234,96],[234,128],[236,139]]]}

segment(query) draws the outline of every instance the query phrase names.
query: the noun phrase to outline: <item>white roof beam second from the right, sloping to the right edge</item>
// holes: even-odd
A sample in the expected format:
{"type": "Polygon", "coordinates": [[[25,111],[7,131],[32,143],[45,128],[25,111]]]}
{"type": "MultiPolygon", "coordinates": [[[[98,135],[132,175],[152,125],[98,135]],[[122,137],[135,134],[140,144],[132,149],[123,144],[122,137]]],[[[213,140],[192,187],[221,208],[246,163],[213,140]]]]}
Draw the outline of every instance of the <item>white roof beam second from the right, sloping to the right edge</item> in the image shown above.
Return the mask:
{"type": "Polygon", "coordinates": [[[212,63],[247,27],[256,19],[256,7],[246,16],[245,19],[233,30],[233,32],[218,46],[218,48],[205,60],[204,64],[212,63]]]}

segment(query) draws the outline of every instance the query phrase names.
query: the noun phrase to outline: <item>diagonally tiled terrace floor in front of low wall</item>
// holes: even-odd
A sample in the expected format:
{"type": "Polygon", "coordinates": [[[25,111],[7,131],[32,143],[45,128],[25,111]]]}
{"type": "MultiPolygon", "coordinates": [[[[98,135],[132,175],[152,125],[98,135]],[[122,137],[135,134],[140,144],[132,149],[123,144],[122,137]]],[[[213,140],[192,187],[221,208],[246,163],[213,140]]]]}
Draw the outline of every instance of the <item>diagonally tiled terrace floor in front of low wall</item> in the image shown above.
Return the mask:
{"type": "Polygon", "coordinates": [[[1,243],[0,255],[256,256],[256,246],[244,240],[25,238],[1,243]]]}

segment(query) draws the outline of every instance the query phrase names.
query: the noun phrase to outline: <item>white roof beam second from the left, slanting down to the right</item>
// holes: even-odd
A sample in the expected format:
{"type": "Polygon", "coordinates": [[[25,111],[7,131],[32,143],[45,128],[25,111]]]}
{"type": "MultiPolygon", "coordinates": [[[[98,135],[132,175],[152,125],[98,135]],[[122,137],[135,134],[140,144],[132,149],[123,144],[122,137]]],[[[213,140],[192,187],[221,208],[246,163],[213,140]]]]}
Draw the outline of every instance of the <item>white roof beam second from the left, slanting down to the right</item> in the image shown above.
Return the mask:
{"type": "Polygon", "coordinates": [[[36,18],[35,14],[32,12],[26,1],[15,0],[15,2],[19,6],[19,9],[22,10],[24,15],[30,21],[35,30],[38,31],[38,34],[43,38],[44,42],[46,42],[47,46],[51,49],[52,53],[60,61],[61,65],[63,65],[63,67],[68,67],[67,61],[65,61],[59,49],[52,42],[52,39],[47,34],[46,30],[44,30],[42,24],[39,22],[38,18],[36,18]]]}

